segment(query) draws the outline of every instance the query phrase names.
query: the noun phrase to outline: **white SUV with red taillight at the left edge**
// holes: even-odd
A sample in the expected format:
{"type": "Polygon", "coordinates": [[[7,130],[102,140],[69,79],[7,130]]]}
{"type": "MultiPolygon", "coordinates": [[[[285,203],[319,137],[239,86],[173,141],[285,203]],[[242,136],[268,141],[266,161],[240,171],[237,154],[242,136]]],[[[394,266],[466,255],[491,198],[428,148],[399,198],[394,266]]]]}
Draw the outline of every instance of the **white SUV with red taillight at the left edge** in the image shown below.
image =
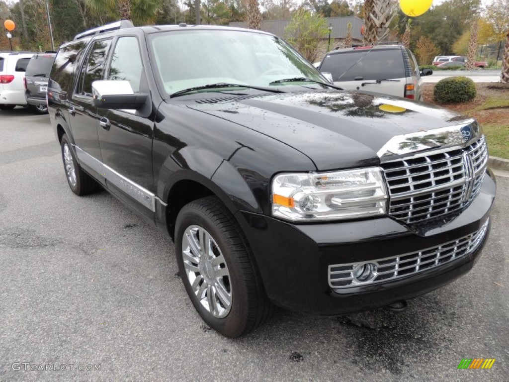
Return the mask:
{"type": "Polygon", "coordinates": [[[34,52],[0,52],[0,110],[26,105],[24,77],[34,52]]]}

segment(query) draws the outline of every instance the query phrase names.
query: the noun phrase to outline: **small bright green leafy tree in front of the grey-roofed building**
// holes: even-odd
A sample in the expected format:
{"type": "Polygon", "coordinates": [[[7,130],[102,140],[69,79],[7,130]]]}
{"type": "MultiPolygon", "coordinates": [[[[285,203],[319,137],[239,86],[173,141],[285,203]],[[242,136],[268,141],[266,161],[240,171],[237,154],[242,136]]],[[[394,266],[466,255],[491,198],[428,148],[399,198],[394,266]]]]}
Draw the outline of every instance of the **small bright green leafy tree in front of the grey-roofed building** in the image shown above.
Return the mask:
{"type": "Polygon", "coordinates": [[[318,57],[321,40],[329,33],[327,20],[301,8],[285,29],[285,37],[310,62],[318,57]]]}

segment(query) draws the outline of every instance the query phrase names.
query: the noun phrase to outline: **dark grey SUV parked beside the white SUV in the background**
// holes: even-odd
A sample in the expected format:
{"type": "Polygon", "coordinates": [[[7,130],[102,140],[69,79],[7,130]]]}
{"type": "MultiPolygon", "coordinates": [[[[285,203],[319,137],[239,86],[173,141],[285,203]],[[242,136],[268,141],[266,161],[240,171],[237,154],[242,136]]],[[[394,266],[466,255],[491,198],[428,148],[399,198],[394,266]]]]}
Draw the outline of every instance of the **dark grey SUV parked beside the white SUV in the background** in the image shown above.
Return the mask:
{"type": "Polygon", "coordinates": [[[48,106],[46,93],[49,72],[55,60],[56,52],[34,54],[25,71],[26,102],[37,114],[46,114],[48,106]]]}

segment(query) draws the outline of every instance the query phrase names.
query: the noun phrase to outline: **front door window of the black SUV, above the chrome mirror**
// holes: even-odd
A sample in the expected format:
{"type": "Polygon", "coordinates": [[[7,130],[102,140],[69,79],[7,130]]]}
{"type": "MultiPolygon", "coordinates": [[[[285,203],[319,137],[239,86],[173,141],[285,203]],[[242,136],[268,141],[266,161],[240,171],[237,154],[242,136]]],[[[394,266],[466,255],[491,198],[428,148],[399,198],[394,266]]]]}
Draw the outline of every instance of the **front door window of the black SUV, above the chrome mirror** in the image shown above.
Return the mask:
{"type": "Polygon", "coordinates": [[[136,37],[121,37],[117,40],[107,79],[127,80],[134,93],[139,92],[143,64],[136,37]]]}

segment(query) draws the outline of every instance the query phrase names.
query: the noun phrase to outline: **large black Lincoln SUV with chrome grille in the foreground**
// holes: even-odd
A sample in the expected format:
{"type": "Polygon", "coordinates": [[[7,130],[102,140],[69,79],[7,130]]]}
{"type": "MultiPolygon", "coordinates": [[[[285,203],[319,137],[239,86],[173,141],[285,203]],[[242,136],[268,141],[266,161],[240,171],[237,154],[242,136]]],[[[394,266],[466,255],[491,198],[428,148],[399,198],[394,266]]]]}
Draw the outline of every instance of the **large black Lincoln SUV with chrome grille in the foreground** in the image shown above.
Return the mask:
{"type": "Polygon", "coordinates": [[[264,32],[105,25],[60,47],[48,102],[72,191],[102,186],[167,232],[224,336],[273,304],[404,306],[470,270],[488,237],[476,121],[338,90],[264,32]]]}

